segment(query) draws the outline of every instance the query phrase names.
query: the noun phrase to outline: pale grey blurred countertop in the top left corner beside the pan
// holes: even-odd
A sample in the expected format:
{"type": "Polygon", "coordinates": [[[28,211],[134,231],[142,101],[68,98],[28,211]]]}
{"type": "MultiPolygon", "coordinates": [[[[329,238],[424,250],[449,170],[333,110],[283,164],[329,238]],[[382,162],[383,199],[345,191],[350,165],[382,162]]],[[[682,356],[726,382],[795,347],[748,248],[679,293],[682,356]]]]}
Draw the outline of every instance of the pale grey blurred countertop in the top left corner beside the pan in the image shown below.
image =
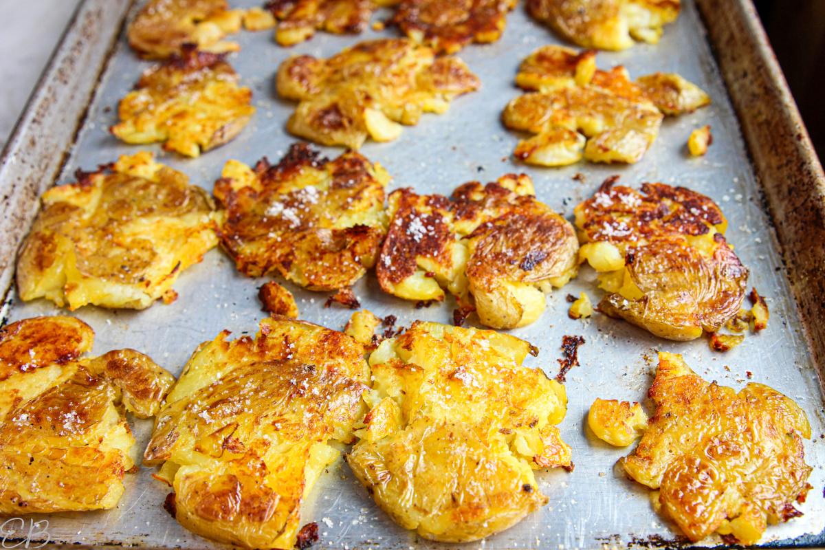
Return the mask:
{"type": "Polygon", "coordinates": [[[81,0],[0,0],[0,149],[81,0]]]}

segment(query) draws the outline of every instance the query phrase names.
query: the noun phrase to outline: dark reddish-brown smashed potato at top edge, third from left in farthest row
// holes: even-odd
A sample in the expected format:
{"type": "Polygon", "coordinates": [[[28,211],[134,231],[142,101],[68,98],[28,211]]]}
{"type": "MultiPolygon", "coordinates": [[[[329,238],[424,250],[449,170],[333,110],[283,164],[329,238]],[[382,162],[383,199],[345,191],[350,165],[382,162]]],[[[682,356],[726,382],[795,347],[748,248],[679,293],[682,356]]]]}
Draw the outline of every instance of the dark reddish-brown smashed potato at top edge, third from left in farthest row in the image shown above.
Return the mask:
{"type": "Polygon", "coordinates": [[[401,0],[391,22],[438,54],[498,40],[516,0],[401,0]]]}

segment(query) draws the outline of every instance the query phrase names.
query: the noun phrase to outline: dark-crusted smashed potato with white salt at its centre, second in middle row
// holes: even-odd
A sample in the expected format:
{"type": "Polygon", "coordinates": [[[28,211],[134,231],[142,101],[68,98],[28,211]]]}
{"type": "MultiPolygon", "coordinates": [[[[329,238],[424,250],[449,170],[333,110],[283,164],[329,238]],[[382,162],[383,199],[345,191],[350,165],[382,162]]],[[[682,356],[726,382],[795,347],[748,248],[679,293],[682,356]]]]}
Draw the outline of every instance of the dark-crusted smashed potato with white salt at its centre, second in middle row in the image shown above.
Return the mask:
{"type": "Polygon", "coordinates": [[[226,209],[224,248],[244,275],[280,273],[311,290],[351,286],[375,265],[388,181],[358,153],[329,161],[306,143],[274,166],[229,161],[214,185],[226,209]]]}

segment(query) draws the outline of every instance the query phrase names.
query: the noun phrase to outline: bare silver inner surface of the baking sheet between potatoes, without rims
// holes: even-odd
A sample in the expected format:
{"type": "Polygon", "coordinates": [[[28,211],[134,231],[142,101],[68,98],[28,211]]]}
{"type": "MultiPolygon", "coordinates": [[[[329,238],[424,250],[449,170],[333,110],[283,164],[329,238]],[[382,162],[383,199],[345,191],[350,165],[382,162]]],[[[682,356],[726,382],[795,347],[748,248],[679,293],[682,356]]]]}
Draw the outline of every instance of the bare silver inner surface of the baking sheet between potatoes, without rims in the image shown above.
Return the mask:
{"type": "MultiPolygon", "coordinates": [[[[234,0],[232,4],[252,7],[259,5],[260,0],[234,0]]],[[[136,9],[133,7],[132,15],[136,9]]],[[[377,12],[374,21],[386,16],[387,12],[377,12]]],[[[112,23],[105,19],[97,23],[106,24],[112,23]]],[[[247,129],[232,143],[197,159],[164,153],[157,146],[146,148],[154,151],[161,162],[186,172],[193,183],[207,190],[212,190],[221,167],[229,159],[252,163],[266,156],[276,160],[295,141],[284,129],[294,104],[281,100],[273,84],[279,63],[293,54],[328,57],[359,40],[382,35],[393,32],[368,30],[360,36],[318,33],[313,40],[291,49],[277,46],[271,32],[234,35],[232,39],[243,49],[229,61],[243,83],[252,87],[258,109],[247,129]]],[[[507,101],[520,93],[513,84],[516,68],[533,49],[554,43],[558,39],[550,31],[530,21],[523,7],[516,8],[508,18],[502,40],[493,45],[471,45],[459,54],[481,78],[483,87],[479,92],[458,98],[444,115],[424,115],[417,126],[406,127],[394,142],[366,143],[361,153],[387,168],[394,178],[389,190],[413,186],[422,193],[449,194],[465,181],[493,181],[507,172],[526,172],[535,181],[538,198],[568,219],[572,219],[575,204],[590,197],[601,181],[614,174],[620,175],[620,182],[625,185],[662,181],[700,191],[716,200],[728,217],[728,242],[733,243],[738,256],[751,270],[749,286],[766,295],[771,322],[758,336],[748,336],[741,346],[719,354],[709,350],[704,339],[687,343],[665,341],[603,315],[596,314],[589,321],[573,321],[567,316],[568,293],[585,291],[592,299],[601,297],[601,291],[596,290],[595,273],[582,269],[577,280],[548,297],[547,309],[537,322],[512,331],[540,348],[540,355],[530,359],[528,365],[540,367],[551,376],[559,369],[556,360],[561,356],[562,336],[580,335],[586,340],[579,352],[581,366],[567,377],[568,414],[559,426],[563,439],[573,447],[575,470],[536,472],[541,490],[549,496],[549,505],[512,529],[484,541],[462,545],[431,543],[401,529],[384,515],[339,459],[320,478],[302,511],[304,522],[318,522],[321,538],[315,548],[594,548],[678,544],[678,529],[653,511],[650,491],[615,471],[616,460],[628,449],[612,448],[596,440],[586,421],[587,410],[596,397],[646,402],[649,408],[645,396],[655,369],[655,360],[650,360],[655,358],[654,350],[681,353],[698,374],[733,388],[742,388],[747,382],[766,383],[803,407],[813,428],[812,440],[805,442],[806,460],[813,466],[809,479],[813,490],[801,506],[804,516],[769,527],[761,543],[825,544],[825,440],[820,439],[825,433],[823,390],[804,339],[775,231],[763,207],[738,120],[695,3],[682,1],[679,20],[667,26],[659,45],[636,45],[624,52],[603,52],[597,57],[601,68],[624,64],[633,77],[654,71],[680,73],[709,92],[714,101],[694,114],[667,119],[646,157],[632,166],[582,162],[571,167],[539,168],[512,161],[512,150],[520,136],[502,127],[500,114],[507,101]],[[705,157],[689,157],[686,139],[691,129],[705,124],[711,126],[714,143],[705,157]],[[577,173],[585,176],[584,181],[573,179],[577,173]],[[748,373],[752,373],[752,378],[747,378],[748,373]]],[[[88,170],[139,150],[138,146],[119,143],[107,129],[115,123],[117,101],[148,66],[150,63],[134,56],[121,32],[73,147],[67,152],[51,152],[54,158],[68,153],[56,183],[73,181],[71,174],[77,168],[88,170]]],[[[78,112],[77,116],[81,114],[78,112]]],[[[330,157],[342,152],[336,148],[324,151],[330,157]]],[[[54,158],[46,160],[54,162],[54,158]]],[[[7,162],[15,162],[15,157],[12,155],[7,162]]],[[[0,186],[10,185],[9,181],[0,180],[0,186]]],[[[148,353],[172,373],[179,374],[191,351],[200,342],[213,339],[219,331],[229,329],[238,337],[257,330],[257,322],[264,313],[256,296],[263,282],[265,279],[239,275],[229,257],[216,249],[202,263],[181,274],[174,286],[179,299],[171,305],[158,302],[142,312],[84,307],[69,314],[94,328],[95,353],[130,347],[148,353]]],[[[323,308],[328,294],[286,286],[295,293],[301,318],[337,329],[347,322],[349,310],[337,305],[323,308]]],[[[454,304],[450,301],[416,309],[411,302],[383,294],[372,273],[356,284],[355,292],[365,308],[379,316],[393,314],[399,324],[408,325],[415,319],[449,323],[452,318],[454,304]]],[[[22,303],[16,294],[10,297],[3,311],[9,321],[68,313],[45,300],[22,303]]],[[[152,421],[130,419],[130,424],[138,440],[136,451],[142,453],[152,421]]],[[[11,534],[25,539],[31,518],[35,522],[48,521],[48,527],[40,525],[48,536],[40,535],[35,540],[150,548],[225,548],[182,529],[163,510],[163,499],[169,489],[153,480],[152,472],[152,468],[140,468],[136,474],[126,476],[125,496],[114,510],[26,516],[25,529],[19,522],[12,522],[3,527],[2,536],[11,534]]],[[[703,544],[718,543],[718,538],[711,537],[703,544]]]]}

